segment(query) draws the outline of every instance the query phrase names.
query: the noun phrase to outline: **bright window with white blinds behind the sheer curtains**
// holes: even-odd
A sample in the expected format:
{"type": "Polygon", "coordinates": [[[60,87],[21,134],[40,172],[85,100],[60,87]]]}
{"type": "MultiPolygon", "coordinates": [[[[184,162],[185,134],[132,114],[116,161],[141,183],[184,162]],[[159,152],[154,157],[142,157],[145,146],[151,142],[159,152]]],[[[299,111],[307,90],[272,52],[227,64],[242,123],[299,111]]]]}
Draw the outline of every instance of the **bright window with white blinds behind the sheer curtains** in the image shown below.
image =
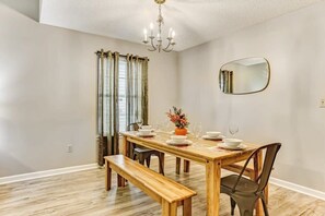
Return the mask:
{"type": "MultiPolygon", "coordinates": [[[[112,127],[111,118],[114,110],[114,79],[113,61],[104,61],[104,100],[103,100],[103,131],[108,132],[112,127]],[[111,120],[109,120],[111,119],[111,120]]],[[[101,87],[101,86],[100,86],[101,87]]],[[[100,100],[101,100],[100,94],[100,100]]],[[[142,62],[127,61],[126,57],[119,57],[118,61],[118,131],[126,131],[127,124],[136,122],[142,115],[142,62]],[[130,70],[128,72],[128,67],[130,70]],[[129,73],[129,74],[128,74],[129,73]]],[[[100,106],[101,107],[101,106],[100,106]]],[[[98,122],[98,127],[101,122],[98,122]]]]}

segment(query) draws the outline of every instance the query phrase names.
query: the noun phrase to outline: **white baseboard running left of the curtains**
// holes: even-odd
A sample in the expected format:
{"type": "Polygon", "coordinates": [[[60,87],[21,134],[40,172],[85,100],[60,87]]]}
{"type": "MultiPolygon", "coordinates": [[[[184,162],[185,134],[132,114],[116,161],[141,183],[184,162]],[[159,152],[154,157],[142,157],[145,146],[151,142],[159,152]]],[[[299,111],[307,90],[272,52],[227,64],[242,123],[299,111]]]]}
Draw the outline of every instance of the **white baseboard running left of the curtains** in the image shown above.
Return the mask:
{"type": "Polygon", "coordinates": [[[10,177],[2,177],[2,178],[0,178],[0,185],[7,184],[7,183],[13,183],[13,182],[18,182],[18,181],[38,179],[38,178],[44,178],[44,177],[51,177],[51,176],[56,176],[56,175],[70,173],[70,172],[83,171],[83,170],[95,169],[95,168],[97,168],[96,164],[89,164],[89,165],[81,165],[81,166],[73,166],[73,167],[65,167],[65,168],[60,168],[60,169],[35,171],[35,172],[15,175],[15,176],[10,176],[10,177]]]}

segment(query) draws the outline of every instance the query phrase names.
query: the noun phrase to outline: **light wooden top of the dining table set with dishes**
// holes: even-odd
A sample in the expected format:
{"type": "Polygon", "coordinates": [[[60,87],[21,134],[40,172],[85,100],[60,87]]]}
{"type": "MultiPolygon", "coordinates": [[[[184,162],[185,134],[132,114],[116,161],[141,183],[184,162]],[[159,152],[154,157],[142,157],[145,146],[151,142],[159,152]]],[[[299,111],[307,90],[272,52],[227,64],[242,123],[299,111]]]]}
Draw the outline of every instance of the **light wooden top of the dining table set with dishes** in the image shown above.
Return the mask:
{"type": "Polygon", "coordinates": [[[171,134],[167,132],[156,132],[156,135],[153,137],[138,136],[136,131],[120,132],[120,134],[126,136],[128,141],[132,143],[161,152],[174,154],[176,156],[183,156],[185,158],[189,158],[200,163],[206,163],[207,160],[231,160],[223,164],[232,164],[236,160],[242,160],[242,158],[247,158],[247,155],[259,147],[259,145],[257,144],[244,142],[243,144],[246,145],[244,149],[230,151],[217,146],[219,143],[221,143],[221,141],[195,139],[190,134],[187,136],[187,139],[193,142],[191,145],[175,146],[166,143],[166,141],[170,140],[171,136],[171,134]]]}

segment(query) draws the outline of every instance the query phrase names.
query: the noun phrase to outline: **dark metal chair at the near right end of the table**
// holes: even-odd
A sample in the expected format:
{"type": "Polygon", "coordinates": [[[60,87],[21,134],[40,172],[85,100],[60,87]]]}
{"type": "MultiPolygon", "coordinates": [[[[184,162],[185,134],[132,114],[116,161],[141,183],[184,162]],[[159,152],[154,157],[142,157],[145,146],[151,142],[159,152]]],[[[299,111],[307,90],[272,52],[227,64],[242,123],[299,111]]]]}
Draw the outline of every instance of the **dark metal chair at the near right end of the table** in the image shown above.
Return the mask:
{"type": "Polygon", "coordinates": [[[234,208],[237,204],[241,216],[253,216],[256,201],[260,199],[264,214],[268,216],[264,189],[267,185],[277,153],[280,147],[280,143],[272,143],[257,148],[248,157],[240,175],[231,175],[221,179],[221,193],[225,193],[230,196],[231,215],[234,215],[234,208]],[[256,181],[242,177],[249,160],[263,149],[266,149],[265,159],[263,163],[262,172],[256,181]]]}

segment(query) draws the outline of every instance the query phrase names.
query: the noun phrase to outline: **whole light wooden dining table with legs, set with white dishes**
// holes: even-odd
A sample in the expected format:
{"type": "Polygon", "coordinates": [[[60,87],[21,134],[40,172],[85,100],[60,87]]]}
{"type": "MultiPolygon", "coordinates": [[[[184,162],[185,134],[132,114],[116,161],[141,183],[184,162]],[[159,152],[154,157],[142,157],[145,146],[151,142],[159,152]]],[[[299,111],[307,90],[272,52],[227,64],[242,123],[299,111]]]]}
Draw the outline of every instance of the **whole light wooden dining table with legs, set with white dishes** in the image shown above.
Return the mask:
{"type": "MultiPolygon", "coordinates": [[[[241,151],[229,151],[218,147],[218,142],[204,139],[190,137],[191,145],[176,146],[166,143],[171,134],[158,132],[153,137],[141,137],[136,131],[120,132],[123,136],[123,154],[130,156],[130,144],[135,143],[143,147],[156,149],[162,153],[174,155],[186,160],[202,164],[206,167],[206,193],[207,215],[219,215],[221,168],[237,161],[245,160],[253,151],[259,147],[257,144],[244,143],[246,146],[241,151]]],[[[260,157],[254,158],[254,169],[260,171],[260,157]]]]}

